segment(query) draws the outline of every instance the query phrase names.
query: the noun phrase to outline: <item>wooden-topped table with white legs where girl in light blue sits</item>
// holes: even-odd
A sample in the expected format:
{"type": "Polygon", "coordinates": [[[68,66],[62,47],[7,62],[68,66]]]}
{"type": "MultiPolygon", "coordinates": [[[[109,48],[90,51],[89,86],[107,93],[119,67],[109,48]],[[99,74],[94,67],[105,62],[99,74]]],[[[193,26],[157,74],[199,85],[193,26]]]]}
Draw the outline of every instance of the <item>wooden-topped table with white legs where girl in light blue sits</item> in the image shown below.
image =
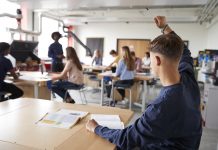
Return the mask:
{"type": "MultiPolygon", "coordinates": [[[[112,73],[111,71],[107,71],[104,73],[98,74],[98,77],[101,79],[101,105],[103,105],[104,101],[104,77],[111,77],[113,80],[117,80],[118,77],[115,76],[115,73],[112,73]]],[[[146,75],[145,73],[136,73],[134,80],[136,81],[143,81],[143,86],[142,86],[142,104],[137,104],[137,106],[141,107],[142,112],[145,110],[145,104],[147,101],[146,95],[149,95],[149,90],[147,86],[147,81],[153,79],[152,76],[146,75]]],[[[113,82],[112,82],[113,83],[113,82]]],[[[113,87],[113,86],[112,86],[113,87]]]]}

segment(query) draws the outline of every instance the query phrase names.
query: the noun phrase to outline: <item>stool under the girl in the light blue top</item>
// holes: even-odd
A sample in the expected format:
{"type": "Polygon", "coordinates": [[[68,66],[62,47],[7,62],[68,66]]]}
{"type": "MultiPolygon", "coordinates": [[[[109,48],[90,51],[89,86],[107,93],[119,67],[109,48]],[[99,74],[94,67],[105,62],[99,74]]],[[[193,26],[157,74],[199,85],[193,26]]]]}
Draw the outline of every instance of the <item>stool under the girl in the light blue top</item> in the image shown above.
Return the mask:
{"type": "MultiPolygon", "coordinates": [[[[131,110],[132,109],[132,86],[134,85],[133,84],[114,84],[112,85],[112,90],[115,89],[128,89],[129,90],[129,109],[131,110]]],[[[112,92],[112,95],[113,95],[113,100],[114,100],[114,91],[112,92]]]]}

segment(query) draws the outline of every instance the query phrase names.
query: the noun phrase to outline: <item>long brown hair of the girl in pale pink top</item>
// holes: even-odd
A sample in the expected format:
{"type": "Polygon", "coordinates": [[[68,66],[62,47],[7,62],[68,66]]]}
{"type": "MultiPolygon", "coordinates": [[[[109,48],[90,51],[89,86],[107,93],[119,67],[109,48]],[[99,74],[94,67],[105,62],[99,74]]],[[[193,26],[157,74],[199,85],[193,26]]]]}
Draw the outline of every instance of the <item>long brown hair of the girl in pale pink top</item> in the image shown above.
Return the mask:
{"type": "Polygon", "coordinates": [[[67,52],[67,60],[72,60],[73,63],[75,63],[75,65],[77,66],[77,68],[79,70],[82,70],[82,65],[79,61],[77,54],[76,54],[76,50],[73,47],[67,47],[66,52],[67,52]]]}

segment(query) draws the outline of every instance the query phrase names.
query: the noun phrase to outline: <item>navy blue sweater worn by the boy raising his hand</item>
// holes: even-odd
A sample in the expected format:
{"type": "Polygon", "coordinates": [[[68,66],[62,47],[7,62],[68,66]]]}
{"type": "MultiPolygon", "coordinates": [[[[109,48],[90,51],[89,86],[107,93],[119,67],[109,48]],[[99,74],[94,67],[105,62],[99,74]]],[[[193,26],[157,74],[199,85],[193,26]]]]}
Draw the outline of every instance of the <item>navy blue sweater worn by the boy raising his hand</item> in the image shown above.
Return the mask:
{"type": "Polygon", "coordinates": [[[179,72],[181,82],[163,87],[134,124],[123,130],[99,125],[95,133],[114,143],[117,149],[197,150],[202,134],[200,92],[186,46],[179,72]]]}

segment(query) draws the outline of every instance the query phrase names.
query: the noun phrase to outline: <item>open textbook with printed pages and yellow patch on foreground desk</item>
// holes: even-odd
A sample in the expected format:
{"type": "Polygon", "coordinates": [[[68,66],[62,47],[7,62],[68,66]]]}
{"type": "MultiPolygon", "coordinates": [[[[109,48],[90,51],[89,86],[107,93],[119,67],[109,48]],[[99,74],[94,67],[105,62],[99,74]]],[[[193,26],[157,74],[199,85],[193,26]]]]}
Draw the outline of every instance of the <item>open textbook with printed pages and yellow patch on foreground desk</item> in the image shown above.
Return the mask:
{"type": "Polygon", "coordinates": [[[46,113],[36,124],[46,127],[69,129],[80,119],[87,116],[87,114],[88,112],[60,109],[56,112],[46,113]]]}

